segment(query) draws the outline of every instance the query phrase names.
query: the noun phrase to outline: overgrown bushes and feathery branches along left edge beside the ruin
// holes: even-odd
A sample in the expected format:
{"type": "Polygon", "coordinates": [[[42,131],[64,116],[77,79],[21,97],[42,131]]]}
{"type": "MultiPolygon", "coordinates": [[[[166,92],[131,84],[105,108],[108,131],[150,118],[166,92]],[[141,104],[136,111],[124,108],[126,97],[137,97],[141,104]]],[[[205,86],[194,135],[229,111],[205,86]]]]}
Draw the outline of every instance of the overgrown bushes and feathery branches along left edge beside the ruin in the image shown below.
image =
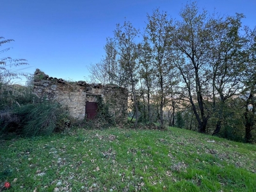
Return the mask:
{"type": "MultiPolygon", "coordinates": [[[[0,46],[12,41],[1,40],[0,46]]],[[[24,59],[14,60],[8,56],[0,60],[0,137],[8,137],[10,132],[33,137],[67,129],[70,126],[67,110],[51,101],[38,102],[33,93],[33,76],[8,69],[20,65],[28,63],[24,59]],[[19,79],[20,76],[28,77],[26,86],[12,84],[12,79],[19,79]]]]}

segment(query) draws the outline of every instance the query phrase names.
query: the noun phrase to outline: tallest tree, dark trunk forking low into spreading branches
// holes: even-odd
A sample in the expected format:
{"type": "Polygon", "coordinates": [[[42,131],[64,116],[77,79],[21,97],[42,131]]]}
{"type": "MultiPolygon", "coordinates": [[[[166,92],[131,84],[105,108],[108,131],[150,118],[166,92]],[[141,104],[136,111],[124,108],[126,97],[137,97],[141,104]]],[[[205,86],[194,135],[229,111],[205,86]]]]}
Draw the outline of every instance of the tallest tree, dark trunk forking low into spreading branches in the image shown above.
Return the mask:
{"type": "Polygon", "coordinates": [[[207,12],[198,13],[196,3],[187,4],[180,16],[182,20],[176,24],[173,39],[173,50],[176,51],[173,63],[182,76],[185,85],[183,91],[188,94],[186,97],[196,116],[198,132],[205,133],[210,118],[205,106],[204,86],[208,81],[205,71],[209,68],[207,45],[212,34],[207,12]]]}

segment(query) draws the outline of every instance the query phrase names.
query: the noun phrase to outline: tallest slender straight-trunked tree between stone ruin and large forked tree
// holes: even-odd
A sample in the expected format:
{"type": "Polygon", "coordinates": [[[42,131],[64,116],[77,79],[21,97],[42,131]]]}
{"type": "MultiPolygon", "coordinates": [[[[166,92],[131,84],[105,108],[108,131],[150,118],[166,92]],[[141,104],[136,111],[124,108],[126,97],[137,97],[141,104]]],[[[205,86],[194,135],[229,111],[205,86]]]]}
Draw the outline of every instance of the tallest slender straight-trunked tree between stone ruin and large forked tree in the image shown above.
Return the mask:
{"type": "Polygon", "coordinates": [[[146,33],[150,45],[152,45],[152,62],[154,74],[156,77],[156,92],[159,96],[159,120],[161,127],[164,125],[163,109],[166,105],[166,97],[170,93],[170,82],[172,82],[171,70],[173,69],[170,63],[170,52],[168,51],[171,44],[173,34],[172,19],[168,19],[167,13],[161,13],[155,10],[152,15],[147,15],[148,24],[146,33]]]}

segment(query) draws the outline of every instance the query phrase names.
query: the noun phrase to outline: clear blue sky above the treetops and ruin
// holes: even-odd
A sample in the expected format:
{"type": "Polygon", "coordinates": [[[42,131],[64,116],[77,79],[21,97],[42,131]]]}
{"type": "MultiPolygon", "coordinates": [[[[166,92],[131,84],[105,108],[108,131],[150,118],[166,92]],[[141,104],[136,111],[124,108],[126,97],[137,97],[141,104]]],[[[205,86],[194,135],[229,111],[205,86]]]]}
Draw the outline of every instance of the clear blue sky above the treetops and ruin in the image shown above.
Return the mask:
{"type": "MultiPolygon", "coordinates": [[[[104,56],[106,38],[126,17],[143,31],[147,13],[168,12],[179,19],[187,0],[0,0],[0,36],[15,42],[1,54],[28,60],[23,71],[40,68],[52,77],[84,80],[88,66],[104,56]]],[[[198,0],[199,8],[225,15],[244,13],[243,24],[256,26],[256,0],[198,0]]]]}

